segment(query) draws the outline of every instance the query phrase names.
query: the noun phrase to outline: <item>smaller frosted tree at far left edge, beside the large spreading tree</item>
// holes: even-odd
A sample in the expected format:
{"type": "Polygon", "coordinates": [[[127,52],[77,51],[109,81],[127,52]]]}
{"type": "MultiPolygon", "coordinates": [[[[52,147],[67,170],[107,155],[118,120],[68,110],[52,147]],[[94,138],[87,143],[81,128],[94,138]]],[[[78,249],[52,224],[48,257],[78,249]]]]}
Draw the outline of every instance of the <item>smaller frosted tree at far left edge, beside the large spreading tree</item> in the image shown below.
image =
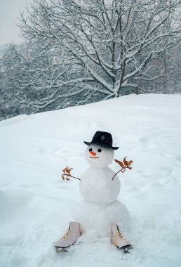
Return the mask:
{"type": "Polygon", "coordinates": [[[25,75],[25,60],[13,44],[4,49],[0,59],[0,119],[13,117],[22,113],[20,100],[25,92],[21,90],[25,75]]]}

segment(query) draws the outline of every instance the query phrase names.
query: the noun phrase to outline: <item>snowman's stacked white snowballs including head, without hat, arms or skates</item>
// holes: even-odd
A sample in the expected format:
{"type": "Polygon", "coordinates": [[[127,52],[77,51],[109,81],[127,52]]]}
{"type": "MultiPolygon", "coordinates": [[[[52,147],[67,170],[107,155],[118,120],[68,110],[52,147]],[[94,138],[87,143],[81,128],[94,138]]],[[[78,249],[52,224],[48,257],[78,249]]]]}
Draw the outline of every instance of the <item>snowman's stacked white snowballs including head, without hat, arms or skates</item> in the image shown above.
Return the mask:
{"type": "Polygon", "coordinates": [[[121,183],[108,167],[114,159],[114,150],[101,145],[88,145],[86,159],[90,168],[81,175],[79,185],[83,201],[76,204],[74,219],[81,223],[81,231],[96,236],[110,235],[110,226],[117,223],[121,229],[130,228],[126,206],[117,200],[121,183]]]}

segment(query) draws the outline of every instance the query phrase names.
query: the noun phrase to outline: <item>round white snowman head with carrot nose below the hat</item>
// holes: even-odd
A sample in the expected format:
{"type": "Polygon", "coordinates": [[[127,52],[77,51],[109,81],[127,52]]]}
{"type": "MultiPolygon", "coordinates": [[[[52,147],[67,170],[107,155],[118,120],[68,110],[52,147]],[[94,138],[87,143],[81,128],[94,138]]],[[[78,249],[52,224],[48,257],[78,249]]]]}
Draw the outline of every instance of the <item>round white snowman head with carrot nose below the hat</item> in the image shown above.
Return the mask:
{"type": "Polygon", "coordinates": [[[88,145],[86,149],[86,159],[91,167],[104,168],[112,163],[114,150],[103,145],[88,145]]]}

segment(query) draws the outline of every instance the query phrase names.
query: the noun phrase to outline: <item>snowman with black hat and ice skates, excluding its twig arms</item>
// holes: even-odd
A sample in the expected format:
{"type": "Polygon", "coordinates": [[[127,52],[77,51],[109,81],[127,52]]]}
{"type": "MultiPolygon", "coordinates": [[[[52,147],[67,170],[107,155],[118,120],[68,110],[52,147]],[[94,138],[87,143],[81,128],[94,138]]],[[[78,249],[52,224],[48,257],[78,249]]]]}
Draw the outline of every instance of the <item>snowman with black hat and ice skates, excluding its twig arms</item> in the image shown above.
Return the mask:
{"type": "Polygon", "coordinates": [[[73,245],[83,233],[107,237],[111,235],[112,244],[128,252],[130,242],[123,230],[130,228],[130,214],[126,206],[117,200],[121,183],[115,172],[108,167],[114,159],[112,134],[97,131],[92,141],[85,142],[86,160],[90,167],[81,174],[79,190],[83,200],[74,212],[67,233],[56,243],[57,251],[73,245]],[[114,177],[114,179],[113,179],[114,177]]]}

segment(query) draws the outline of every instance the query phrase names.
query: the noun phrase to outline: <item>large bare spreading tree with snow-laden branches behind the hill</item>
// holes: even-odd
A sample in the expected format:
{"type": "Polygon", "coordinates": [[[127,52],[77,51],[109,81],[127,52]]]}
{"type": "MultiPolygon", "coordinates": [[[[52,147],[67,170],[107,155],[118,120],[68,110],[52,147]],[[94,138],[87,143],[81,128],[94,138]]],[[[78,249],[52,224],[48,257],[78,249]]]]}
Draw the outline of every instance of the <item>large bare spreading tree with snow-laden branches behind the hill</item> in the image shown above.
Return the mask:
{"type": "Polygon", "coordinates": [[[85,101],[121,96],[159,79],[163,73],[150,70],[180,41],[179,7],[179,0],[34,0],[20,27],[39,59],[50,61],[35,78],[48,93],[34,105],[82,93],[85,101]]]}

